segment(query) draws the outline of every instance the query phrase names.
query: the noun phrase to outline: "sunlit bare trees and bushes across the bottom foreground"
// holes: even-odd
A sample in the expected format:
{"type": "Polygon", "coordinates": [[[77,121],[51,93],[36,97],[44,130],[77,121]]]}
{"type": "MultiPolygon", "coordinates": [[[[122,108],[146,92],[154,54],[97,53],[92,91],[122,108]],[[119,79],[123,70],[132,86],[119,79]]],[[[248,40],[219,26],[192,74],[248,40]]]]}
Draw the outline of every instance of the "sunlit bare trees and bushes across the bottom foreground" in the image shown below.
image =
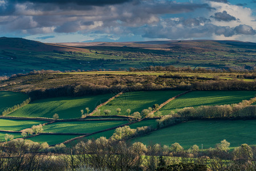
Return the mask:
{"type": "Polygon", "coordinates": [[[215,148],[184,149],[173,143],[129,144],[100,137],[68,148],[16,139],[0,144],[0,170],[255,170],[256,147],[230,150],[226,140],[215,148]]]}

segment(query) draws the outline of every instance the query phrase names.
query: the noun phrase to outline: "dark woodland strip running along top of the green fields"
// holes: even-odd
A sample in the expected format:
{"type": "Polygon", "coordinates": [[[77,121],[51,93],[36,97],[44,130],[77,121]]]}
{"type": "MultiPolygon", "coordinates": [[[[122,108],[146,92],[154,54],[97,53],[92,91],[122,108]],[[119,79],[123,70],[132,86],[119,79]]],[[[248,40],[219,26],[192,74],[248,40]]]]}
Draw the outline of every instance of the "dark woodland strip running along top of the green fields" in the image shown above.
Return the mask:
{"type": "Polygon", "coordinates": [[[60,96],[85,96],[85,95],[100,95],[105,93],[117,94],[119,92],[132,91],[165,91],[165,90],[195,90],[195,91],[242,91],[242,90],[256,90],[256,82],[245,82],[243,80],[208,80],[207,82],[184,83],[181,82],[176,86],[166,86],[159,82],[159,84],[132,84],[127,85],[112,85],[101,86],[97,84],[79,84],[66,85],[56,88],[42,88],[35,89],[29,92],[32,100],[60,97],[60,96]]]}

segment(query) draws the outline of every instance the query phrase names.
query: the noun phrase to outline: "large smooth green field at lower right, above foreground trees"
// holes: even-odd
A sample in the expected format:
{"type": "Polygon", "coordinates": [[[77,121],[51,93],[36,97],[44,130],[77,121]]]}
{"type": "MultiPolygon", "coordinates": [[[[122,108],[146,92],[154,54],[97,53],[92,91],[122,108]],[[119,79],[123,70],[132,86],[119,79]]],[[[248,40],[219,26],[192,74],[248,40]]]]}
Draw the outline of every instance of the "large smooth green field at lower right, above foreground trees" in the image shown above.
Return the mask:
{"type": "Polygon", "coordinates": [[[256,120],[195,120],[174,125],[152,132],[150,135],[137,137],[132,142],[144,144],[171,145],[180,143],[185,149],[196,144],[210,148],[226,139],[230,146],[247,143],[256,144],[256,120]]]}

